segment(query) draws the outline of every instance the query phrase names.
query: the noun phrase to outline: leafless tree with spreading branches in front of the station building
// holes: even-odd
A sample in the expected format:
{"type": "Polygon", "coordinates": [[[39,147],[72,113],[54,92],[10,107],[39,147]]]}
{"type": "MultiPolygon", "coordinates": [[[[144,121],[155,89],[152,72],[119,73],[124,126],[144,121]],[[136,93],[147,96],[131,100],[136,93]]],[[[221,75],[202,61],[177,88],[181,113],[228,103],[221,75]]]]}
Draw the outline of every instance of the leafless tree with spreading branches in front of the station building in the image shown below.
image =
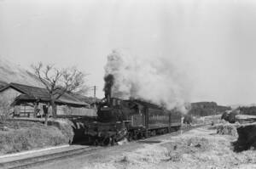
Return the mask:
{"type": "Polygon", "coordinates": [[[56,100],[60,99],[64,93],[83,93],[87,88],[84,84],[86,76],[77,68],[57,69],[54,65],[32,65],[34,74],[44,84],[49,93],[49,105],[52,109],[52,115],[56,117],[56,100]]]}

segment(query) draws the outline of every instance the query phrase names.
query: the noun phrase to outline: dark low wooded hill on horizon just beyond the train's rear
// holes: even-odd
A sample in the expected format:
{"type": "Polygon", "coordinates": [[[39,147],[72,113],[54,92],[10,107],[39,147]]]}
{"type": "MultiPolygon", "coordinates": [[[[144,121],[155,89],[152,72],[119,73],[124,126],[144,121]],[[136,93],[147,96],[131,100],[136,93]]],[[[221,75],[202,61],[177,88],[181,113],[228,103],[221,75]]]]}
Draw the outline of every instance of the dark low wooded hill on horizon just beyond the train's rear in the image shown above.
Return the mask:
{"type": "Polygon", "coordinates": [[[215,102],[197,102],[192,103],[188,115],[193,116],[207,116],[219,115],[225,110],[231,110],[229,106],[218,105],[215,102]]]}

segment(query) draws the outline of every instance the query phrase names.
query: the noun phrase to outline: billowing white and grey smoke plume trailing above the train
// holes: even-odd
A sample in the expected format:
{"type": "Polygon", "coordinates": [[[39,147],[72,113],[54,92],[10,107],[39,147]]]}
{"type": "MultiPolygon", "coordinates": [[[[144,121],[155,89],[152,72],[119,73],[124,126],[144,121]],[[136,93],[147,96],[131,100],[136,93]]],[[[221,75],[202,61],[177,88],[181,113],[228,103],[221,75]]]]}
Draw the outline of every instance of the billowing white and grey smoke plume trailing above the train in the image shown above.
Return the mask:
{"type": "Polygon", "coordinates": [[[105,94],[110,92],[115,98],[143,99],[168,110],[186,111],[188,90],[182,74],[168,59],[142,59],[113,51],[108,55],[105,73],[105,94]]]}

